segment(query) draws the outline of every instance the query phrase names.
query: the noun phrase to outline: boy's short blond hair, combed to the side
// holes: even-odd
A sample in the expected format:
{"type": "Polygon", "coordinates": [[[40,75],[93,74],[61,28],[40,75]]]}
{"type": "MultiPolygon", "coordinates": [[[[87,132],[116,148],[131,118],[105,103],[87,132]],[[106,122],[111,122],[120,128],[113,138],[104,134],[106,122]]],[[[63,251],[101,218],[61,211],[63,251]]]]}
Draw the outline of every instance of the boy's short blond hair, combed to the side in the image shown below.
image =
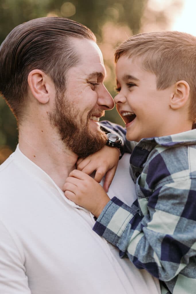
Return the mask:
{"type": "Polygon", "coordinates": [[[159,90],[185,80],[190,86],[190,119],[196,122],[195,36],[178,31],[138,34],[118,46],[115,62],[122,55],[140,57],[144,69],[156,75],[159,90]]]}

